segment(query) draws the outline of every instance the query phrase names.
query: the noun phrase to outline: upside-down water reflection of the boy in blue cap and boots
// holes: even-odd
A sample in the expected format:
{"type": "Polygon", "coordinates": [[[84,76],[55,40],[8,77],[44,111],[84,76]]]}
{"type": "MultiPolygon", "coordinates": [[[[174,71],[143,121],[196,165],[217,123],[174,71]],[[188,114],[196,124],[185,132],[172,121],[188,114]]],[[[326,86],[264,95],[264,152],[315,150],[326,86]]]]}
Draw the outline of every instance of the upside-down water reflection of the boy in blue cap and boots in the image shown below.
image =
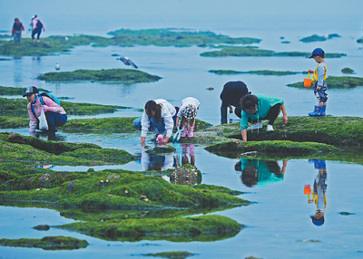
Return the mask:
{"type": "Polygon", "coordinates": [[[323,225],[325,222],[324,214],[327,209],[327,166],[325,160],[309,159],[309,162],[314,163],[314,168],[318,169],[318,175],[314,179],[312,200],[317,206],[315,215],[310,216],[314,225],[323,225]]]}

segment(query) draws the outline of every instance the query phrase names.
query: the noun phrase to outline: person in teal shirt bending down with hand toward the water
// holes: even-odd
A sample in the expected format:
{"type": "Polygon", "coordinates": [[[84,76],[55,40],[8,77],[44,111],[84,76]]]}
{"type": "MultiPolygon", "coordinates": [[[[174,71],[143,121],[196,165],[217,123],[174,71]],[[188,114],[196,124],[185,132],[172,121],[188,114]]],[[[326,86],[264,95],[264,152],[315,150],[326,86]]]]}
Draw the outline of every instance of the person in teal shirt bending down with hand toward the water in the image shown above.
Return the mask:
{"type": "Polygon", "coordinates": [[[248,94],[240,100],[242,113],[240,118],[240,130],[242,140],[247,141],[248,123],[253,123],[251,129],[262,128],[262,120],[269,120],[267,131],[273,130],[273,123],[282,110],[284,125],[288,123],[288,115],[284,101],[280,98],[269,97],[264,94],[248,94]]]}

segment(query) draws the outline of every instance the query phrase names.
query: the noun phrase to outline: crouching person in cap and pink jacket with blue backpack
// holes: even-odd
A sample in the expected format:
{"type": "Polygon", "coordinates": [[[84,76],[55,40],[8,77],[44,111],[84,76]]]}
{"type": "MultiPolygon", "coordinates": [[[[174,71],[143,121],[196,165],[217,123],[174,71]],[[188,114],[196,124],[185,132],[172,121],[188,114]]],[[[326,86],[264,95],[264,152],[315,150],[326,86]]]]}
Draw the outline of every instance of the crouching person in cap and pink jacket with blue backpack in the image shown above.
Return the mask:
{"type": "Polygon", "coordinates": [[[55,132],[55,127],[62,126],[67,122],[67,114],[64,108],[47,96],[40,96],[35,86],[28,87],[23,97],[25,96],[29,101],[27,108],[30,117],[30,133],[34,133],[35,129],[39,129],[39,117],[42,109],[48,123],[48,132],[55,132]]]}

